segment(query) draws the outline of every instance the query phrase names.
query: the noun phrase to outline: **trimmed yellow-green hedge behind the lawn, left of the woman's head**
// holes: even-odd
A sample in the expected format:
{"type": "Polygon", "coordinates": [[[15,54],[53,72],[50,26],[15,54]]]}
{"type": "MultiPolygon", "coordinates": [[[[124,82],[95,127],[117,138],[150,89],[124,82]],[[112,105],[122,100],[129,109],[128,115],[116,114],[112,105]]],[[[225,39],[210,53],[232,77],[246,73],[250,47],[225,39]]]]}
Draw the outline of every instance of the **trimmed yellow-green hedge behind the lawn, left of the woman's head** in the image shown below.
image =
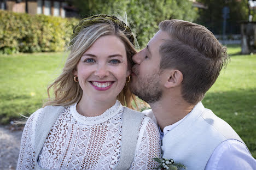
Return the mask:
{"type": "Polygon", "coordinates": [[[0,53],[63,51],[77,19],[0,10],[0,53]]]}

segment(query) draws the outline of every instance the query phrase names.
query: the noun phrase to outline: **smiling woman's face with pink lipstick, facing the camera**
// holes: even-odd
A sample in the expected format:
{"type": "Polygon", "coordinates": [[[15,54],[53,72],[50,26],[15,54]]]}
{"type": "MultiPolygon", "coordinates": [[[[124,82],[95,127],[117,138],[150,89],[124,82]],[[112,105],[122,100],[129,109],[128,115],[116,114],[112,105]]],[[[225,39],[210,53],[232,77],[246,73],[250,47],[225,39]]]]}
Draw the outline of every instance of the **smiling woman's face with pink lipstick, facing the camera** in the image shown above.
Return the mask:
{"type": "Polygon", "coordinates": [[[83,100],[113,102],[130,75],[125,45],[115,35],[98,38],[86,50],[77,64],[74,75],[83,90],[83,100]]]}

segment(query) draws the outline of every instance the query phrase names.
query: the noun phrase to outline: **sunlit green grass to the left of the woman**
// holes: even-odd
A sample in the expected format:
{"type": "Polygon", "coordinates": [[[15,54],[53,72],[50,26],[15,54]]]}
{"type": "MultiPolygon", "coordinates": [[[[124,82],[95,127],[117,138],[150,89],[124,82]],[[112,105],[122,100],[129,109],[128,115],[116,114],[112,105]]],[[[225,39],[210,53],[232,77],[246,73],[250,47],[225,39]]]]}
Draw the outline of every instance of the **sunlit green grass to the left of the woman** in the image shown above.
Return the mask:
{"type": "Polygon", "coordinates": [[[60,73],[63,53],[0,56],[0,123],[29,116],[47,98],[46,88],[60,73]]]}

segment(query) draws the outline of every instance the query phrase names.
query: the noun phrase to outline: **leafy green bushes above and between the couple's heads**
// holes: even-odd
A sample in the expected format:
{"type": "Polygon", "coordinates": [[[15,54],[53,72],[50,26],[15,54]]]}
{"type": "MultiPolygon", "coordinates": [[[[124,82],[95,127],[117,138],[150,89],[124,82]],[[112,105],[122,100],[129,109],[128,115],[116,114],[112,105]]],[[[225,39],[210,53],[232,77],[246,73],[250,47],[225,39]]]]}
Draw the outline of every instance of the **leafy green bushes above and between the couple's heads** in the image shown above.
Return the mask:
{"type": "Polygon", "coordinates": [[[73,2],[82,17],[99,13],[121,14],[125,11],[128,21],[136,29],[138,43],[142,47],[146,46],[150,38],[158,31],[158,24],[162,20],[181,19],[193,21],[197,17],[196,10],[189,0],[74,0],[73,2]]]}

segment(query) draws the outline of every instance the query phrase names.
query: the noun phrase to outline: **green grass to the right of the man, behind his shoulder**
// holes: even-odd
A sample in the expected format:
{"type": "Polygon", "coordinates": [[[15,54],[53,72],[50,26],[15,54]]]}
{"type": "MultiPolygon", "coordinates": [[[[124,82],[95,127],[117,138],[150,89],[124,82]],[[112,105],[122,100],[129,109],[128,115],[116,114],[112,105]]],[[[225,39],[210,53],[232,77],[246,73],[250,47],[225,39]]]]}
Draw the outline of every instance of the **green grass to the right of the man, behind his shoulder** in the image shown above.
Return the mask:
{"type": "Polygon", "coordinates": [[[240,50],[228,47],[230,63],[202,103],[228,122],[256,157],[256,55],[241,55],[240,50]]]}

